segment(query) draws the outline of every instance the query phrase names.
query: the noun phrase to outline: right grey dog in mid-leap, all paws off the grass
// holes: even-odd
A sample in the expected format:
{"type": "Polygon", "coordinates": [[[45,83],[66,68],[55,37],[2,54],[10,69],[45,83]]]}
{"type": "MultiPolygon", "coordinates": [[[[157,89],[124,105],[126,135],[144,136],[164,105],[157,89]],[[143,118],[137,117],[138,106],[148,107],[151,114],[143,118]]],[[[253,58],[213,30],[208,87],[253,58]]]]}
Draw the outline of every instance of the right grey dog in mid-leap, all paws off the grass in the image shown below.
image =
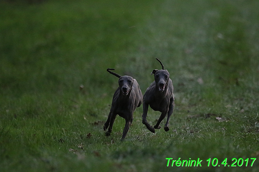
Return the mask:
{"type": "Polygon", "coordinates": [[[167,114],[167,121],[164,125],[164,131],[169,131],[169,120],[170,116],[173,113],[174,108],[174,95],[173,95],[173,83],[172,80],[169,78],[169,72],[164,70],[164,66],[162,62],[156,58],[162,66],[162,70],[154,69],[151,72],[151,75],[154,74],[155,81],[150,84],[147,88],[146,92],[144,93],[144,100],[143,100],[143,115],[142,115],[142,123],[146,125],[147,129],[153,133],[155,133],[155,128],[160,129],[161,126],[159,125],[161,121],[167,114]],[[161,116],[157,121],[156,125],[152,127],[147,122],[147,109],[148,105],[154,111],[160,111],[161,116]]]}

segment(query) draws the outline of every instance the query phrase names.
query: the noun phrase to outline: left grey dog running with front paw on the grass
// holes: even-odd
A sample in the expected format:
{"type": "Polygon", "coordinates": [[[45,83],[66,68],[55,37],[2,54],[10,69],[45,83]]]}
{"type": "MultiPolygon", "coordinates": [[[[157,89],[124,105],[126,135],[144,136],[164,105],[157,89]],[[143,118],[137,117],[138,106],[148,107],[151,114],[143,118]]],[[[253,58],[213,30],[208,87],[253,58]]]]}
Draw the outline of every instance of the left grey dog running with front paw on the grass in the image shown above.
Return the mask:
{"type": "Polygon", "coordinates": [[[106,136],[109,136],[112,132],[115,117],[118,114],[126,121],[121,138],[121,140],[124,140],[129,131],[129,126],[132,124],[133,113],[143,102],[143,95],[137,80],[131,76],[120,76],[110,70],[115,69],[107,69],[107,71],[119,78],[119,87],[113,95],[111,110],[103,129],[106,130],[109,127],[108,131],[106,131],[106,136]]]}

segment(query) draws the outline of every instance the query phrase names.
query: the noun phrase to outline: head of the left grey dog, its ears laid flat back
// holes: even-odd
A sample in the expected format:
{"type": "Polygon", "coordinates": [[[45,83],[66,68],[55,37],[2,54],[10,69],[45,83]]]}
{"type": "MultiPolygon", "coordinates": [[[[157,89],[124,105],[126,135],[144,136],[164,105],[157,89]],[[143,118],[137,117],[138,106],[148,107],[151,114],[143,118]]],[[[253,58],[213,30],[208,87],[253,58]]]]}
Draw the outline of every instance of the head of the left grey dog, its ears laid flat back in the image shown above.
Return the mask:
{"type": "Polygon", "coordinates": [[[122,76],[119,78],[120,93],[128,95],[131,92],[133,85],[133,78],[131,76],[122,76]]]}

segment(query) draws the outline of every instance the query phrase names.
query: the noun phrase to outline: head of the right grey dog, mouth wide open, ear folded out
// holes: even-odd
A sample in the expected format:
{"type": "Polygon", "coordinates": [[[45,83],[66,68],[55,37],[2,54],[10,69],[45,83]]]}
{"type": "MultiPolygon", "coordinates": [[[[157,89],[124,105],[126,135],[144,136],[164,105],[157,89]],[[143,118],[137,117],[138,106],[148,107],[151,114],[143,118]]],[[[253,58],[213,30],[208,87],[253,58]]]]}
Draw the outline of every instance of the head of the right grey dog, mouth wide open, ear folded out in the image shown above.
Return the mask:
{"type": "Polygon", "coordinates": [[[156,87],[159,89],[159,91],[163,92],[165,88],[168,86],[169,81],[169,72],[167,70],[158,70],[154,69],[151,72],[151,75],[155,75],[155,82],[156,87]]]}

